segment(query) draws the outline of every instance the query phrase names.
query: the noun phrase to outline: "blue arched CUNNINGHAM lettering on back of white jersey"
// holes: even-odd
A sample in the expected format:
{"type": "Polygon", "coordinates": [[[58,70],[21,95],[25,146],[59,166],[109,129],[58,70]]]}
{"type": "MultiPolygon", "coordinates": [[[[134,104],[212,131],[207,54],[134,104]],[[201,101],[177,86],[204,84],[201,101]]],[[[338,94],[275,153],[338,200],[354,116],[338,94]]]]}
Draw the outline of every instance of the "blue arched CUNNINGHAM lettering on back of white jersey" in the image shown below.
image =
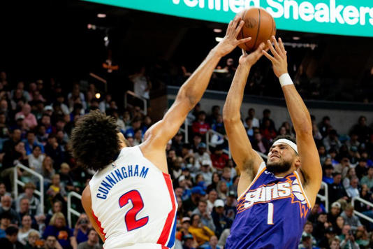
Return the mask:
{"type": "Polygon", "coordinates": [[[146,178],[147,171],[149,171],[148,167],[142,166],[142,168],[140,169],[140,166],[138,165],[128,165],[126,167],[123,166],[120,169],[118,168],[114,171],[111,171],[110,173],[108,173],[107,176],[105,176],[105,180],[101,181],[96,197],[99,199],[106,199],[112,187],[114,187],[115,184],[119,183],[119,181],[129,177],[146,178]]]}

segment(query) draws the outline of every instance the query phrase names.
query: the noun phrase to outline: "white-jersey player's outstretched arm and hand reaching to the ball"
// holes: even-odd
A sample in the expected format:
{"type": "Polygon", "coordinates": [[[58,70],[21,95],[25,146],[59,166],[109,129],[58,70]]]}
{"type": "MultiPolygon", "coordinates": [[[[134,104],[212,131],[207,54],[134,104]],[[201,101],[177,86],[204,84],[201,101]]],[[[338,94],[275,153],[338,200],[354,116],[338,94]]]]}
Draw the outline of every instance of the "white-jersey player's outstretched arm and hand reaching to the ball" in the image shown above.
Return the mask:
{"type": "Polygon", "coordinates": [[[142,150],[147,150],[147,148],[164,150],[166,148],[166,143],[175,136],[186,115],[200,101],[221,57],[228,55],[237,45],[250,40],[250,38],[244,38],[237,41],[237,35],[243,24],[240,17],[235,17],[235,20],[228,24],[223,40],[210,51],[198,69],[180,87],[173,106],[163,119],[147,131],[145,143],[141,146],[142,150]]]}

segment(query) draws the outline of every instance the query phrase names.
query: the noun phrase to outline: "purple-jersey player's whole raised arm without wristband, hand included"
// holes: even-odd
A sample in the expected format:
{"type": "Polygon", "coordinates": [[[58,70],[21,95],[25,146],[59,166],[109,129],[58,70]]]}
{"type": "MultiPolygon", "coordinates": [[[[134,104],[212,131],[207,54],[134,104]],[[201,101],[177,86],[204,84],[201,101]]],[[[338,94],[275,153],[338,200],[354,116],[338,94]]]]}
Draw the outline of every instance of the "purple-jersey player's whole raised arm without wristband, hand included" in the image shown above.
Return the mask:
{"type": "Polygon", "coordinates": [[[247,177],[249,181],[252,180],[256,171],[258,171],[263,159],[251,148],[251,143],[241,122],[240,108],[244,97],[247,76],[249,76],[251,66],[262,56],[261,50],[263,48],[264,44],[262,43],[255,52],[249,55],[242,50],[243,55],[240,57],[240,64],[235,72],[223,108],[224,127],[226,127],[233,159],[242,172],[242,176],[247,177]]]}

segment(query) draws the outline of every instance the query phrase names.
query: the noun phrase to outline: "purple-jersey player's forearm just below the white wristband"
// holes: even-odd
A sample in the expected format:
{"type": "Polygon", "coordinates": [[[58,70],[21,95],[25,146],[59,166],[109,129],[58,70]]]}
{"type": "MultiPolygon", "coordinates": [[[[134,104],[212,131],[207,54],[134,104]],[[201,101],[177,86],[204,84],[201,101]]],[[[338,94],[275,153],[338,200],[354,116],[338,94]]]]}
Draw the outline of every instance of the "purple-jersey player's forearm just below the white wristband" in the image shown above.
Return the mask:
{"type": "Polygon", "coordinates": [[[293,84],[282,87],[291,122],[293,122],[297,136],[312,134],[312,122],[309,112],[298,91],[293,84]]]}

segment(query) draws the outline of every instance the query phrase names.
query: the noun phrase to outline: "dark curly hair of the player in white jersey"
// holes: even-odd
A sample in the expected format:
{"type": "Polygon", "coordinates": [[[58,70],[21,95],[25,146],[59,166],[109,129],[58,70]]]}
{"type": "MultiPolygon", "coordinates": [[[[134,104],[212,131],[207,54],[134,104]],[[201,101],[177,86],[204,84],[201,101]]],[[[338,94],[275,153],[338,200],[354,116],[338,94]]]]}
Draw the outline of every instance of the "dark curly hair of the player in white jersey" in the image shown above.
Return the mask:
{"type": "Polygon", "coordinates": [[[115,118],[91,111],[76,122],[71,133],[73,157],[85,168],[105,168],[119,155],[118,132],[115,118]]]}

